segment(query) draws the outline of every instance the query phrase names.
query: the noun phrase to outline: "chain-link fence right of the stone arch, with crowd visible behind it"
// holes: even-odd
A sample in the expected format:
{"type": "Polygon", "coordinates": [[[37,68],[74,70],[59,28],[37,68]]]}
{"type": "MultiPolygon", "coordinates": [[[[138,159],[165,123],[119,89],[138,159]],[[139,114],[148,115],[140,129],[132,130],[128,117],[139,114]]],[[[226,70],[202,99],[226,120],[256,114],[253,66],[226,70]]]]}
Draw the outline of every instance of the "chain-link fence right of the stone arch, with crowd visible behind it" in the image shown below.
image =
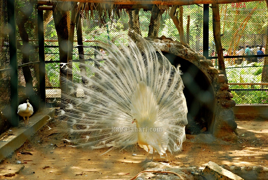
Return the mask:
{"type": "MultiPolygon", "coordinates": [[[[263,57],[267,54],[266,2],[222,4],[219,9],[226,74],[233,99],[237,104],[267,104],[268,59],[263,57]]],[[[210,55],[214,56],[213,35],[209,43],[210,55]]],[[[213,62],[217,66],[217,59],[213,62]]]]}

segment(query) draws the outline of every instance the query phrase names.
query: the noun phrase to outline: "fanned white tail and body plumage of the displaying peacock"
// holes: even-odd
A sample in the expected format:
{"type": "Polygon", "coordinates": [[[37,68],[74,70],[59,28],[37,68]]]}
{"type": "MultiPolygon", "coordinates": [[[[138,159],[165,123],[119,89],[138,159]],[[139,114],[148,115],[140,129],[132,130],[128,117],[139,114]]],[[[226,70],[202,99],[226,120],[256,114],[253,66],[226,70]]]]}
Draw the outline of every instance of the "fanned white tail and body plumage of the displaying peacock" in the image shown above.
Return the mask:
{"type": "Polygon", "coordinates": [[[65,94],[58,114],[59,125],[66,124],[72,136],[69,142],[91,149],[123,149],[138,142],[159,154],[182,150],[187,106],[180,71],[154,42],[136,39],[128,46],[100,42],[105,53],[95,50],[98,66],[84,64],[91,74],[73,72],[85,85],[68,82],[83,97],[65,94]]]}

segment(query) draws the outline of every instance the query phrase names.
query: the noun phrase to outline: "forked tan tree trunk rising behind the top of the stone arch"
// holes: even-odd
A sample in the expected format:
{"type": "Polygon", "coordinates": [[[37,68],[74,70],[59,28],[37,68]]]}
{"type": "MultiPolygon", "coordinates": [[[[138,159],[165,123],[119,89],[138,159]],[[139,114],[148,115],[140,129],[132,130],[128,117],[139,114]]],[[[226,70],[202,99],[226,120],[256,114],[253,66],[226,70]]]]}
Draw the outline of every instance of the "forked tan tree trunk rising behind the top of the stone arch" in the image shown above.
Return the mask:
{"type": "Polygon", "coordinates": [[[173,23],[175,24],[179,35],[180,35],[180,42],[181,44],[185,45],[185,37],[184,37],[184,31],[183,31],[183,6],[180,6],[180,19],[176,16],[176,9],[177,6],[172,6],[172,8],[169,11],[169,16],[172,19],[173,23]]]}

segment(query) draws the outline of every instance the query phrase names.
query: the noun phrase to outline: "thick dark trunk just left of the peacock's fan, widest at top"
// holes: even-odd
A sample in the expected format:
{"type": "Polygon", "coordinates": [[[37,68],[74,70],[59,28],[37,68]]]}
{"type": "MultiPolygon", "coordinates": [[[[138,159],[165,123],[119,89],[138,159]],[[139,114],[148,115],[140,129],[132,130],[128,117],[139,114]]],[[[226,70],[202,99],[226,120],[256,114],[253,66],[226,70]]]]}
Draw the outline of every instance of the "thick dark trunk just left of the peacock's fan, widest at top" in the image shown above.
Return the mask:
{"type": "MultiPolygon", "coordinates": [[[[61,3],[61,2],[58,2],[61,3]]],[[[58,36],[59,43],[59,85],[61,87],[61,91],[67,92],[67,85],[65,80],[62,78],[67,77],[66,67],[67,67],[67,58],[68,58],[68,25],[67,25],[67,11],[58,9],[61,5],[57,5],[57,9],[53,5],[53,19],[55,24],[55,29],[58,36]]]]}

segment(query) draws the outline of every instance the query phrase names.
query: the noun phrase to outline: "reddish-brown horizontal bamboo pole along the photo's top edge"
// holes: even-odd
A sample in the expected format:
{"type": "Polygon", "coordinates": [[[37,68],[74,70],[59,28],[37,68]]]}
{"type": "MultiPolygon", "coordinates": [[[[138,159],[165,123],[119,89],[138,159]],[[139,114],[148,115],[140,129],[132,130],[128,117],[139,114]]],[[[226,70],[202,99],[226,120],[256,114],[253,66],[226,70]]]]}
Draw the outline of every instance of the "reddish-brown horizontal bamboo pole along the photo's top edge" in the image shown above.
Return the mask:
{"type": "MultiPolygon", "coordinates": [[[[55,0],[58,1],[58,0],[55,0]]],[[[106,4],[158,4],[158,5],[192,5],[192,4],[229,4],[259,0],[61,0],[65,2],[86,2],[106,4]]],[[[263,0],[262,0],[263,1],[263,0]]]]}

